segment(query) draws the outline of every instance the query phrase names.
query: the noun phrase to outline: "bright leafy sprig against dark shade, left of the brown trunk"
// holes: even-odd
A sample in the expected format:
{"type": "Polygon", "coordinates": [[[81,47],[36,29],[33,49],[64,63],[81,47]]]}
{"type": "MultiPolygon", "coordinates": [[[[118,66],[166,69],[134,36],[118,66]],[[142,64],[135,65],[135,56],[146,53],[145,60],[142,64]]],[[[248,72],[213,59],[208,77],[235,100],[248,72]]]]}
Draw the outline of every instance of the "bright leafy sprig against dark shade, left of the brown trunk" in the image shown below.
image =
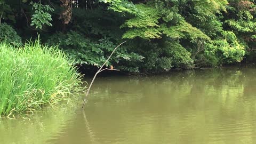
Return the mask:
{"type": "Polygon", "coordinates": [[[31,18],[31,24],[30,26],[36,26],[36,29],[42,29],[44,25],[52,26],[52,15],[49,12],[53,12],[54,9],[52,9],[49,5],[43,5],[41,3],[30,3],[33,5],[32,9],[35,11],[35,13],[32,15],[31,18]]]}

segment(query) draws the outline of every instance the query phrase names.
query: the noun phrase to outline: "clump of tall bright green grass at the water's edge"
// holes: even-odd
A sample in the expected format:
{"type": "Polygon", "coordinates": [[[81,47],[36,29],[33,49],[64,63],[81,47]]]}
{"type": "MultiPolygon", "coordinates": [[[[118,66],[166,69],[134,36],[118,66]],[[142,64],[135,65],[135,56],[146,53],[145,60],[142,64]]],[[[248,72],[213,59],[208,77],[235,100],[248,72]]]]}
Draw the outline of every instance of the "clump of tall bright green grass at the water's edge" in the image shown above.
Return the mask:
{"type": "Polygon", "coordinates": [[[0,44],[0,116],[40,109],[81,90],[81,76],[67,55],[36,41],[19,49],[0,44]]]}

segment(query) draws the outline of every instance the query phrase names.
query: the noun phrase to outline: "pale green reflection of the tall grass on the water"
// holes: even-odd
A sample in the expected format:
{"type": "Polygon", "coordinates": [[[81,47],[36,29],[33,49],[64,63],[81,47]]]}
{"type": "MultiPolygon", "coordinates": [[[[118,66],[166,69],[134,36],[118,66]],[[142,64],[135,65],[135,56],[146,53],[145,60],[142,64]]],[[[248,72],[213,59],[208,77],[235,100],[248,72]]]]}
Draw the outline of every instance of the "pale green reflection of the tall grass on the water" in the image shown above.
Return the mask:
{"type": "Polygon", "coordinates": [[[0,120],[0,133],[2,143],[13,144],[44,144],[50,140],[55,132],[67,125],[74,117],[74,107],[69,105],[58,106],[59,108],[45,109],[37,112],[27,119],[0,120]],[[13,129],[15,127],[15,130],[13,129]]]}

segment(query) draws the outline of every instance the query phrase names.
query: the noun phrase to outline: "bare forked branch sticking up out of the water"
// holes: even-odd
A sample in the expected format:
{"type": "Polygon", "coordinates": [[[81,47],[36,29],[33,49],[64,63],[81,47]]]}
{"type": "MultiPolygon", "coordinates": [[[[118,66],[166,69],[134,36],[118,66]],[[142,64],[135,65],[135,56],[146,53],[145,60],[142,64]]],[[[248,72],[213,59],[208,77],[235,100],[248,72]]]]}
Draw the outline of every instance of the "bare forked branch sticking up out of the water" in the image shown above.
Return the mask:
{"type": "MultiPolygon", "coordinates": [[[[124,41],[123,43],[125,43],[125,42],[126,42],[126,41],[124,41]]],[[[85,94],[85,98],[84,98],[84,102],[83,102],[82,108],[84,107],[84,104],[87,102],[86,98],[88,97],[89,91],[90,91],[90,89],[91,89],[91,87],[92,87],[92,83],[94,82],[96,76],[97,76],[101,71],[103,71],[103,70],[114,70],[114,69],[108,69],[108,68],[102,69],[102,68],[106,65],[106,63],[107,63],[108,60],[111,58],[111,56],[112,56],[113,53],[116,51],[116,49],[117,49],[119,46],[121,46],[123,43],[119,44],[119,45],[113,50],[113,52],[109,55],[108,59],[103,63],[103,65],[100,67],[100,69],[99,69],[99,70],[96,72],[96,74],[94,75],[94,77],[93,77],[93,79],[92,79],[92,82],[91,82],[91,84],[90,84],[90,86],[89,86],[89,88],[88,88],[88,90],[87,90],[87,92],[86,92],[86,94],[85,94]],[[102,70],[101,70],[101,69],[102,69],[102,70]]],[[[115,70],[118,70],[118,69],[115,69],[115,70]]]]}

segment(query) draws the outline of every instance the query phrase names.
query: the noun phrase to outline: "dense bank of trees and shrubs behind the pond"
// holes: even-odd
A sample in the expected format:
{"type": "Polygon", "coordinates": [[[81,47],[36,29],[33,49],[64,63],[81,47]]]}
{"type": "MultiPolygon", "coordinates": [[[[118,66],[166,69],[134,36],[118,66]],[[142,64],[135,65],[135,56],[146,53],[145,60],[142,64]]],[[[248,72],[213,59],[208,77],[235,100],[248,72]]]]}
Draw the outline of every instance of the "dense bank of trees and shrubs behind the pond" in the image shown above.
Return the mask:
{"type": "Polygon", "coordinates": [[[107,66],[161,72],[255,58],[254,0],[0,0],[0,7],[2,40],[40,34],[85,72],[126,40],[107,66]]]}

